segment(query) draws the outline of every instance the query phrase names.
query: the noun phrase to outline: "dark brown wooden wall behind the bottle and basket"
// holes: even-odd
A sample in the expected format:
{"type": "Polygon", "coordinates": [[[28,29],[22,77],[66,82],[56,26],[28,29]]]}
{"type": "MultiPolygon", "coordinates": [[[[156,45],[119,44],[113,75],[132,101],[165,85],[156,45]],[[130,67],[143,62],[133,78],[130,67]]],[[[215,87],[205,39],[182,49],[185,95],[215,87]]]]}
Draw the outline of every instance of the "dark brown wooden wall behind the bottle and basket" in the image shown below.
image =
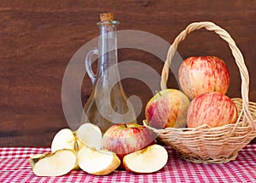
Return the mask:
{"type": "MultiPolygon", "coordinates": [[[[148,31],[169,43],[194,21],[223,27],[244,55],[249,98],[256,101],[256,1],[0,0],[0,146],[49,146],[54,134],[68,127],[61,106],[62,78],[73,54],[98,36],[96,22],[104,12],[115,14],[119,30],[148,31]]],[[[217,35],[197,31],[178,52],[183,58],[208,54],[225,60],[231,74],[228,95],[240,97],[239,71],[227,43],[217,35]]],[[[135,49],[120,49],[123,60],[142,61],[159,73],[163,66],[154,55],[135,49]]],[[[83,102],[90,95],[87,76],[84,83],[83,102]]],[[[126,94],[138,95],[144,106],[152,97],[141,81],[125,79],[123,84],[126,94]]],[[[177,83],[169,82],[169,87],[177,83]]],[[[142,112],[138,121],[143,117],[142,112]]]]}

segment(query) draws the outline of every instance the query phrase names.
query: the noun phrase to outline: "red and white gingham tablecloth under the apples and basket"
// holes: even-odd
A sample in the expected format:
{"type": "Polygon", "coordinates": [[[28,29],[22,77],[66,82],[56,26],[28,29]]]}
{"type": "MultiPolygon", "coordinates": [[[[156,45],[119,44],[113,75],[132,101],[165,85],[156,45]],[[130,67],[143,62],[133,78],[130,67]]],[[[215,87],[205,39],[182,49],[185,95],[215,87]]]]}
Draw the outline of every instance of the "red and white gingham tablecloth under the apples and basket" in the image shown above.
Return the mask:
{"type": "Polygon", "coordinates": [[[105,176],[73,170],[60,177],[38,177],[28,157],[49,152],[49,148],[0,147],[0,182],[256,182],[256,144],[247,145],[236,161],[224,164],[196,164],[178,158],[166,147],[169,160],[154,174],[132,174],[116,170],[105,176]]]}

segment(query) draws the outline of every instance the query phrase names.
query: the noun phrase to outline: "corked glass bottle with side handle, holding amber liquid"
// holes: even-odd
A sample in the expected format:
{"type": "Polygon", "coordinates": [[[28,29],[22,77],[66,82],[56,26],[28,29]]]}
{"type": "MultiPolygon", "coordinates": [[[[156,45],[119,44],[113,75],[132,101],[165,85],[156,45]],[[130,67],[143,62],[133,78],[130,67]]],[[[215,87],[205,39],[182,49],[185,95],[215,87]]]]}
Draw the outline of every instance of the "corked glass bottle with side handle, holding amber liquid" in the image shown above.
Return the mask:
{"type": "Polygon", "coordinates": [[[137,123],[131,102],[120,82],[116,26],[113,14],[101,14],[97,49],[86,55],[85,68],[93,83],[92,92],[84,105],[81,123],[94,123],[104,133],[114,123],[137,123]],[[91,70],[92,55],[98,55],[97,72],[91,70]]]}

